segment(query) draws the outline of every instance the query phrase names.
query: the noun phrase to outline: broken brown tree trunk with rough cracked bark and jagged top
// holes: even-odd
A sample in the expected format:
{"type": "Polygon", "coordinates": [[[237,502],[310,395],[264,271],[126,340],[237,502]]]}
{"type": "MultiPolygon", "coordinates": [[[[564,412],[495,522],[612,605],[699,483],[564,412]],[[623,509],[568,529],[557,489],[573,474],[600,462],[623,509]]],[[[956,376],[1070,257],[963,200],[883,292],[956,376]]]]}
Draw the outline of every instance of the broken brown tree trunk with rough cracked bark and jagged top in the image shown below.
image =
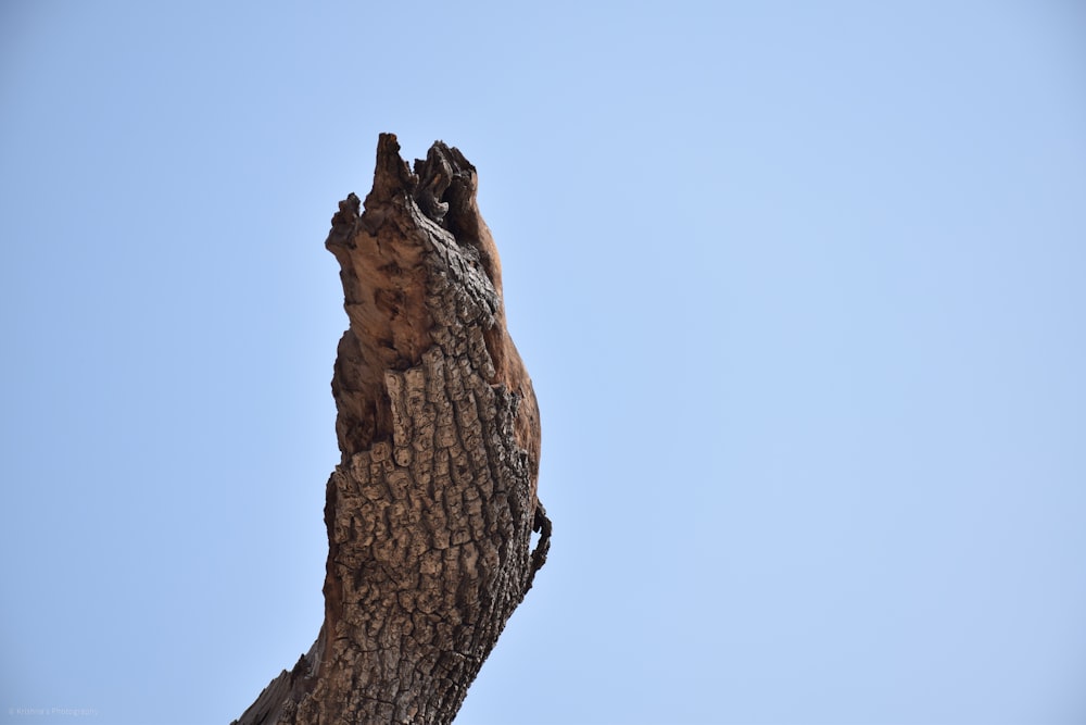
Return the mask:
{"type": "Polygon", "coordinates": [[[546,559],[539,409],[476,188],[457,149],[413,173],[382,134],[365,212],[352,193],[332,217],[351,324],[325,621],[237,723],[451,722],[546,559]]]}

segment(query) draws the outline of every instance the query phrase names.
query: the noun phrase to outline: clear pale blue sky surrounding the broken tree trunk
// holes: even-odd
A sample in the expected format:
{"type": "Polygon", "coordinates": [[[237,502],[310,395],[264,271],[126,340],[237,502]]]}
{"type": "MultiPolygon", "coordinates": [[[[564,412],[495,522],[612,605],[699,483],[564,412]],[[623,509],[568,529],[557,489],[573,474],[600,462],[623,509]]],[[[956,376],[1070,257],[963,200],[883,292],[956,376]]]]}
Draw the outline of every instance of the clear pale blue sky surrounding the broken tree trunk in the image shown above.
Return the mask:
{"type": "Polygon", "coordinates": [[[458,723],[1086,722],[1081,3],[3,0],[0,723],[315,638],[386,130],[479,168],[543,415],[458,723]]]}

